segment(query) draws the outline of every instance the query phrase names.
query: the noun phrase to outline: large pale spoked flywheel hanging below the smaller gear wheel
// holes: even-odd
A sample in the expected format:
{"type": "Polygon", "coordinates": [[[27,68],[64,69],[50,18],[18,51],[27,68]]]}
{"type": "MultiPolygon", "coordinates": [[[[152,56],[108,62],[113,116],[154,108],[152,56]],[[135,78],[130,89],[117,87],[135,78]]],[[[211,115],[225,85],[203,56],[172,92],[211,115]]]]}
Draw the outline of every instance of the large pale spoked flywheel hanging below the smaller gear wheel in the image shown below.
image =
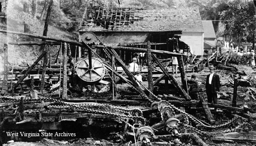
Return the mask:
{"type": "Polygon", "coordinates": [[[101,60],[92,58],[92,67],[89,68],[89,58],[81,60],[76,67],[77,75],[88,83],[96,83],[105,76],[105,67],[101,60]]]}

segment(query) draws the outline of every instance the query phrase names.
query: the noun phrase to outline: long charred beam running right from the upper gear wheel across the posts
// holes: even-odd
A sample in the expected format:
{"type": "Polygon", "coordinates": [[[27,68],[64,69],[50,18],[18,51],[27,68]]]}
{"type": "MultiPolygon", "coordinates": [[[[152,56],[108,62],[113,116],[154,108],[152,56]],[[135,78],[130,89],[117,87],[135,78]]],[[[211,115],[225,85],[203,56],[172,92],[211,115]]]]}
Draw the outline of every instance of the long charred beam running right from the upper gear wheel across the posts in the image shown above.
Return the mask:
{"type": "MultiPolygon", "coordinates": [[[[96,45],[94,47],[99,48],[99,49],[105,48],[105,46],[102,46],[102,45],[96,45]]],[[[136,48],[136,47],[108,46],[108,45],[107,45],[107,47],[111,48],[111,49],[119,49],[119,50],[131,51],[131,52],[147,52],[147,49],[136,48]]],[[[175,56],[175,57],[178,57],[178,56],[181,56],[181,55],[186,56],[185,54],[163,51],[163,50],[151,50],[151,53],[152,54],[165,54],[165,55],[175,56]]]]}

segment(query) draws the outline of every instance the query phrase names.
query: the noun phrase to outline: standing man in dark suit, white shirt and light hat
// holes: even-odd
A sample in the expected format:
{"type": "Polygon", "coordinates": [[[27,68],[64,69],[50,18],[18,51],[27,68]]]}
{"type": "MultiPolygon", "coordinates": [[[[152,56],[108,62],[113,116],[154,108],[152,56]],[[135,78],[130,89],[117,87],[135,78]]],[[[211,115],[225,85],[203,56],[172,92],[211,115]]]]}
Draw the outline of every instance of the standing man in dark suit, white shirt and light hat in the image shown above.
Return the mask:
{"type": "Polygon", "coordinates": [[[215,67],[210,66],[210,74],[207,75],[206,78],[206,94],[207,94],[207,101],[208,103],[215,103],[217,104],[217,92],[220,91],[220,77],[218,74],[215,74],[215,67]]]}

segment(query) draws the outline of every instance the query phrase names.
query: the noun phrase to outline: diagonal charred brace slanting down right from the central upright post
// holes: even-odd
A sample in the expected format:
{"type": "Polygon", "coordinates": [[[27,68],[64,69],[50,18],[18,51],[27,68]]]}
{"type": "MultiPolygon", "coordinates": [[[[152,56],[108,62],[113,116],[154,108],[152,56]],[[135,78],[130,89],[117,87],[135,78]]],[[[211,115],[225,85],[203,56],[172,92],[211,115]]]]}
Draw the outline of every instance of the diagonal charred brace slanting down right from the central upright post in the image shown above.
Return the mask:
{"type": "Polygon", "coordinates": [[[166,75],[166,77],[168,77],[168,79],[173,82],[173,85],[176,87],[176,89],[180,92],[180,94],[185,97],[186,100],[191,100],[191,97],[189,96],[189,94],[187,94],[187,92],[179,85],[178,81],[175,79],[175,77],[173,77],[171,74],[169,74],[167,72],[167,70],[163,67],[163,65],[159,62],[159,60],[157,59],[157,57],[152,54],[152,58],[154,59],[154,61],[157,63],[157,65],[160,67],[160,69],[163,71],[163,73],[166,75]]]}

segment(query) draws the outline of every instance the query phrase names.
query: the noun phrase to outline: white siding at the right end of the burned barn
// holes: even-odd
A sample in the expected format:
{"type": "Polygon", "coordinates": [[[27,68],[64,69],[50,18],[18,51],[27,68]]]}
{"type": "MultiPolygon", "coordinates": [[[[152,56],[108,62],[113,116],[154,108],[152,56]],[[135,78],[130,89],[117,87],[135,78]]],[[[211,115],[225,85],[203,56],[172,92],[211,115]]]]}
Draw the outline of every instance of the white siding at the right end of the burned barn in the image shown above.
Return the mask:
{"type": "Polygon", "coordinates": [[[204,35],[203,33],[182,32],[181,41],[192,47],[192,51],[196,55],[203,55],[204,53],[204,35]]]}

